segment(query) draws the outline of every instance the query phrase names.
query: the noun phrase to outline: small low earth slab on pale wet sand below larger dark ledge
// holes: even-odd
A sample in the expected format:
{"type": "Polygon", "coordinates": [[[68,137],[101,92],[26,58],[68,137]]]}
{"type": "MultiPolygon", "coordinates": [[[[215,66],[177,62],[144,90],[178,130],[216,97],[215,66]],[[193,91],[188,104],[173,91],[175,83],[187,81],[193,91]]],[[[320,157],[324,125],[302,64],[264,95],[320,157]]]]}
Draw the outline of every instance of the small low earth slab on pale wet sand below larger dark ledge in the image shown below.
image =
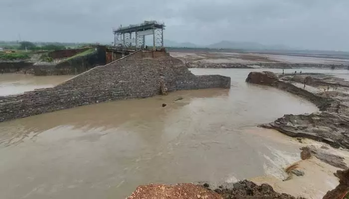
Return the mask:
{"type": "Polygon", "coordinates": [[[309,159],[310,156],[315,156],[319,160],[341,169],[348,169],[347,164],[344,162],[344,158],[338,155],[330,154],[323,149],[315,148],[314,146],[306,146],[301,148],[302,160],[309,159]],[[305,159],[304,159],[305,158],[305,159]]]}

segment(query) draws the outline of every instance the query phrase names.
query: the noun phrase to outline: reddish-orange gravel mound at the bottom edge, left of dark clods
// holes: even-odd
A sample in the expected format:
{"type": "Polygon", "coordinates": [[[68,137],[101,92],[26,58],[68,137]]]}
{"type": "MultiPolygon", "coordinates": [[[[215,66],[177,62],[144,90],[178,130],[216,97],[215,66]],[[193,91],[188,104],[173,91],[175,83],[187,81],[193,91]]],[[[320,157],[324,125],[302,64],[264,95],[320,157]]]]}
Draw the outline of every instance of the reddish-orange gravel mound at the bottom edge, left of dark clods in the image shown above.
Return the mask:
{"type": "Polygon", "coordinates": [[[203,186],[194,184],[139,186],[127,199],[221,199],[203,186]]]}

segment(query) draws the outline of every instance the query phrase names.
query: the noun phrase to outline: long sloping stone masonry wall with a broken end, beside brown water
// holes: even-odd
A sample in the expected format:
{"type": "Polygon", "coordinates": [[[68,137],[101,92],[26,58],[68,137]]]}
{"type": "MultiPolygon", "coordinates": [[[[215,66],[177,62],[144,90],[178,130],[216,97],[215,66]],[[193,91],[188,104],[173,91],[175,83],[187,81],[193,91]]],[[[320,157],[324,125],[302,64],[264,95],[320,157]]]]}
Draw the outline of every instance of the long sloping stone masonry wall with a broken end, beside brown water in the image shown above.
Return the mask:
{"type": "Polygon", "coordinates": [[[53,88],[0,97],[0,121],[109,100],[147,98],[168,91],[230,88],[230,78],[195,76],[165,52],[138,51],[95,67],[53,88]]]}

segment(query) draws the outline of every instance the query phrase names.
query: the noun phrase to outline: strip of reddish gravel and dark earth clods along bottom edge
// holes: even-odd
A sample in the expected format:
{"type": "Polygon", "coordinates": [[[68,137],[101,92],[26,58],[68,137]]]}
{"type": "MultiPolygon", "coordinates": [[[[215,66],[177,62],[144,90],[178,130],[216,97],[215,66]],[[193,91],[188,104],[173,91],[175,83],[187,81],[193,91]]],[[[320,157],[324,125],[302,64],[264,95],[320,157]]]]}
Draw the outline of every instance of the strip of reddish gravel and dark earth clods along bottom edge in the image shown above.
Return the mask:
{"type": "Polygon", "coordinates": [[[304,199],[279,194],[268,184],[244,180],[221,185],[200,183],[139,186],[127,199],[304,199]],[[214,191],[213,191],[214,190],[214,191]]]}

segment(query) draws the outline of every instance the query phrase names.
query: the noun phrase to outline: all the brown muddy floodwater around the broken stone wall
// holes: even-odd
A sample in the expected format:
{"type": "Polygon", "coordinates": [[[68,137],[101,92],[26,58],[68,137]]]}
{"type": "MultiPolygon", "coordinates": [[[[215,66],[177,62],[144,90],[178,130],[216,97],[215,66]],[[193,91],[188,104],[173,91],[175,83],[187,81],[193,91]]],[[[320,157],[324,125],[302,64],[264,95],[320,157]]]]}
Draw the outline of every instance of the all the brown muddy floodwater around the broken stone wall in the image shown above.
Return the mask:
{"type": "MultiPolygon", "coordinates": [[[[180,91],[2,122],[0,198],[123,199],[141,184],[283,178],[283,167],[300,159],[298,145],[256,125],[318,108],[244,82],[250,71],[264,70],[192,69],[230,76],[231,89],[180,91]],[[183,100],[174,101],[178,97],[183,100]]],[[[69,78],[0,75],[0,95],[69,78]]]]}

